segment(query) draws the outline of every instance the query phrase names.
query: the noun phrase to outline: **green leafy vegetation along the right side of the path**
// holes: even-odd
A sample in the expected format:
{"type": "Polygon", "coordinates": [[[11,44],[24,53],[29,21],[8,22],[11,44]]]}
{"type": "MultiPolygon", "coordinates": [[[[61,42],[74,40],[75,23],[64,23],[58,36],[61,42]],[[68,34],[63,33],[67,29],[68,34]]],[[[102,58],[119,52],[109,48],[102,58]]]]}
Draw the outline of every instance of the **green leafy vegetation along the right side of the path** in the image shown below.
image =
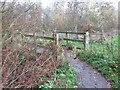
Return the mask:
{"type": "Polygon", "coordinates": [[[98,69],[111,82],[114,88],[118,88],[118,38],[115,37],[103,45],[93,44],[90,50],[80,50],[77,55],[79,58],[89,62],[94,68],[98,69]]]}

